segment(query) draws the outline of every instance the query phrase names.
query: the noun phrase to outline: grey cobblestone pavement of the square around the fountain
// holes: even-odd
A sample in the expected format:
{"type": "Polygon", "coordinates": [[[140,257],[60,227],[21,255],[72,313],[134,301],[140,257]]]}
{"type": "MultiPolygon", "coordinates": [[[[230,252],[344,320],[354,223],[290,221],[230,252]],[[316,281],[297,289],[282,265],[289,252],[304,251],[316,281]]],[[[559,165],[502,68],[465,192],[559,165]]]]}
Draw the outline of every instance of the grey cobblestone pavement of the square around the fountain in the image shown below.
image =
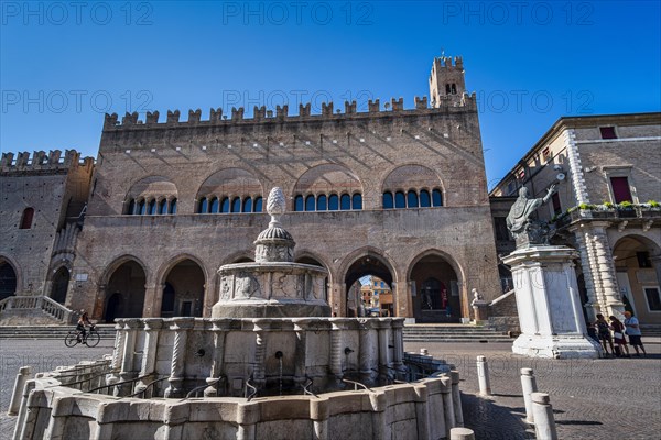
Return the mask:
{"type": "MultiPolygon", "coordinates": [[[[524,422],[519,372],[531,367],[538,389],[551,395],[557,433],[563,440],[659,439],[661,436],[661,339],[643,338],[647,358],[539,360],[511,353],[509,343],[407,343],[456,365],[462,376],[464,420],[477,439],[534,439],[524,422]],[[477,396],[476,356],[489,362],[494,396],[477,396]]],[[[112,352],[112,341],[72,349],[56,340],[0,340],[0,439],[10,439],[14,417],[7,416],[19,367],[52,371],[112,352]]]]}

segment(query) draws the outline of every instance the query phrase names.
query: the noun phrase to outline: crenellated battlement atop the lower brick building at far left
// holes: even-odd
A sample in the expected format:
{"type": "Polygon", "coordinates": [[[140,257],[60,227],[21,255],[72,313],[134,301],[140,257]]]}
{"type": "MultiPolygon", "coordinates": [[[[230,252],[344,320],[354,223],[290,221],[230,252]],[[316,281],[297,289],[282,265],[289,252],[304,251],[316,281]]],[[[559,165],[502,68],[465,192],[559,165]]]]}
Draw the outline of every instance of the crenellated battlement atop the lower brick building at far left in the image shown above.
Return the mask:
{"type": "MultiPolygon", "coordinates": [[[[126,120],[126,118],[124,118],[126,120]]],[[[62,151],[52,150],[46,154],[45,151],[20,152],[14,157],[13,153],[2,153],[0,158],[0,172],[24,172],[24,170],[66,170],[74,167],[84,167],[91,170],[94,157],[80,158],[80,153],[76,150],[66,150],[64,157],[62,151]]]]}

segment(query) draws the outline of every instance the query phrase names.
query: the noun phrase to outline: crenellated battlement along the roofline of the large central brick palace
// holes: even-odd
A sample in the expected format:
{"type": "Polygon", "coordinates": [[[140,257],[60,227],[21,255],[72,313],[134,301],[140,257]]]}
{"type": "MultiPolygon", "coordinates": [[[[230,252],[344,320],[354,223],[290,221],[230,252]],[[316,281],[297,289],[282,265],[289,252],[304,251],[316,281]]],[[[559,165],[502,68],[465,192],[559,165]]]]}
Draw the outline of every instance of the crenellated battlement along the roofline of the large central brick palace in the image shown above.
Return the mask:
{"type": "MultiPolygon", "coordinates": [[[[441,58],[437,58],[441,59],[441,58]]],[[[449,58],[447,58],[449,59],[449,58]]],[[[446,63],[451,63],[448,61],[446,63]]],[[[459,67],[462,65],[460,57],[455,58],[455,66],[459,67]],[[458,58],[458,61],[457,61],[458,58]]],[[[223,109],[212,108],[209,110],[209,119],[202,119],[202,110],[188,110],[188,120],[180,121],[181,111],[180,110],[167,110],[167,116],[164,122],[159,121],[160,113],[158,111],[150,112],[148,111],[144,121],[138,119],[138,112],[126,113],[121,118],[121,122],[117,113],[106,114],[104,121],[104,131],[108,130],[117,130],[123,128],[130,128],[132,125],[198,125],[198,124],[236,124],[241,122],[247,123],[263,123],[263,122],[296,122],[296,121],[307,121],[307,120],[338,120],[346,119],[353,117],[386,117],[393,113],[398,114],[407,114],[407,113],[420,113],[420,112],[440,112],[440,111],[452,111],[452,109],[460,110],[460,111],[476,111],[476,96],[475,92],[472,95],[463,94],[460,97],[460,101],[457,102],[456,97],[444,99],[443,97],[438,99],[438,102],[434,102],[434,107],[430,107],[427,97],[415,97],[414,98],[414,108],[413,109],[404,109],[404,99],[392,98],[390,102],[381,105],[379,99],[369,100],[368,101],[368,111],[361,112],[358,111],[358,106],[356,101],[345,101],[344,103],[344,112],[338,108],[335,108],[335,105],[330,102],[322,102],[322,111],[321,113],[312,113],[312,103],[300,103],[299,105],[299,114],[290,116],[289,114],[289,106],[277,106],[275,112],[273,110],[267,110],[264,106],[253,108],[252,118],[247,118],[245,116],[243,107],[232,107],[230,111],[230,118],[227,114],[224,116],[223,109]]]]}

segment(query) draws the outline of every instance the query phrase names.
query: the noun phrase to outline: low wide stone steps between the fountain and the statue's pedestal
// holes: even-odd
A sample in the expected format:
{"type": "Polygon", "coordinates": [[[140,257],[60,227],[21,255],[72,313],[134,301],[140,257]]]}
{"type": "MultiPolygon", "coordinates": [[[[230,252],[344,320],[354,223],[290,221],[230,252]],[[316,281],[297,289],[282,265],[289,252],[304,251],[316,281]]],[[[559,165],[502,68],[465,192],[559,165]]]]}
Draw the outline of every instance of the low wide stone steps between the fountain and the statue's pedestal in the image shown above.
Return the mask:
{"type": "Polygon", "coordinates": [[[404,342],[513,342],[513,338],[489,326],[405,324],[404,342]]]}

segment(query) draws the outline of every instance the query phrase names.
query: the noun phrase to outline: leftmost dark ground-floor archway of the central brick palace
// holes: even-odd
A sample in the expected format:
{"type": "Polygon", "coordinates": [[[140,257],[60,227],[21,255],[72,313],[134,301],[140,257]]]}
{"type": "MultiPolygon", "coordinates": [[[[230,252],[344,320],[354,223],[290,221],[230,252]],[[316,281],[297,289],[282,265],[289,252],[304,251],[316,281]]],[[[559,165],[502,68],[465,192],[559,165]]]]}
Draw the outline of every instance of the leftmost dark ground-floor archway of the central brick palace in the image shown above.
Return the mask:
{"type": "Polygon", "coordinates": [[[120,264],[108,278],[104,317],[107,322],[115,318],[141,318],[144,306],[147,276],[134,260],[120,264]]]}

